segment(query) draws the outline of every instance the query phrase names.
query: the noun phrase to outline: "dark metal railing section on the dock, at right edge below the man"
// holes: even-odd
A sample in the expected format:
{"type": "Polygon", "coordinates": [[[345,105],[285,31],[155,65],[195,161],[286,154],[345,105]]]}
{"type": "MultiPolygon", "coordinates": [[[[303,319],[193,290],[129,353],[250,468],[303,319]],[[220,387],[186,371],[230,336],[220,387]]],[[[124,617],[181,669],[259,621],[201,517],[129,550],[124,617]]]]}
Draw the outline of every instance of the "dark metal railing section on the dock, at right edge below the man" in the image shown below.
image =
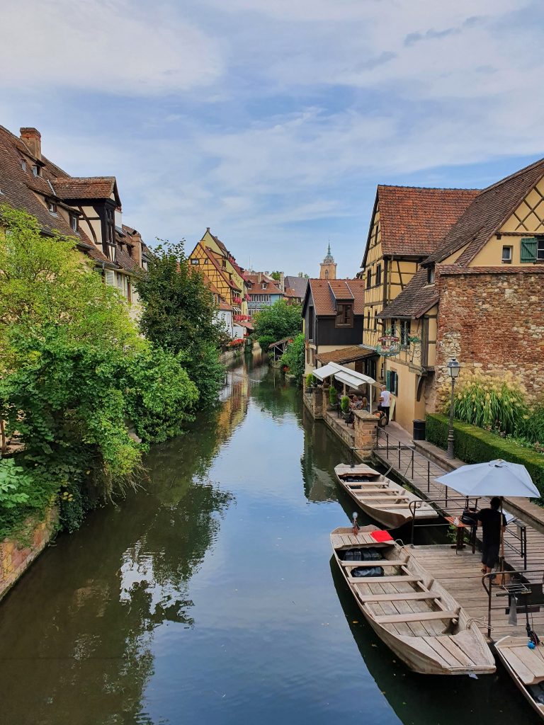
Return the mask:
{"type": "Polygon", "coordinates": [[[487,592],[487,637],[491,639],[493,629],[493,612],[498,610],[510,610],[513,599],[516,612],[527,613],[527,634],[529,634],[529,612],[540,612],[540,606],[544,605],[543,594],[544,569],[504,569],[492,571],[482,576],[482,587],[487,592]],[[537,581],[529,581],[529,577],[537,581]],[[538,581],[540,579],[540,581],[538,581]],[[508,597],[508,604],[499,602],[493,607],[493,594],[495,597],[508,597]],[[519,597],[519,598],[518,598],[519,597]]]}

